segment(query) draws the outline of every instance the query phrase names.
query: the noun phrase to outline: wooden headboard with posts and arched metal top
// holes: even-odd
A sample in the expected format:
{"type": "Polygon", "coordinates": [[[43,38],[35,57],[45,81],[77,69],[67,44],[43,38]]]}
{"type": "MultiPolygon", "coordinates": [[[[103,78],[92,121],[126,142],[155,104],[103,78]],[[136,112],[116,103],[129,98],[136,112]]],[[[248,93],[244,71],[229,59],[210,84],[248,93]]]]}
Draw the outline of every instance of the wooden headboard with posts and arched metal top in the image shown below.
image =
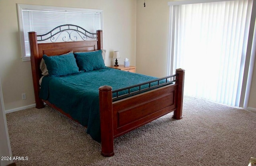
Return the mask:
{"type": "Polygon", "coordinates": [[[71,25],[71,24],[58,26],[44,35],[37,35],[36,32],[29,32],[28,37],[30,42],[30,53],[31,53],[30,59],[31,59],[36,108],[44,107],[43,101],[39,98],[39,90],[40,90],[39,80],[42,76],[42,72],[40,70],[40,62],[44,54],[46,54],[47,56],[53,56],[53,55],[65,54],[70,51],[80,52],[80,51],[95,51],[95,50],[103,49],[102,30],[97,30],[96,33],[91,33],[79,26],[71,25]],[[65,29],[63,29],[63,27],[65,27],[65,29]],[[59,29],[59,31],[56,32],[56,29],[57,30],[59,29]],[[86,39],[85,37],[83,41],[38,43],[38,41],[40,40],[42,41],[42,36],[48,35],[50,37],[47,37],[47,39],[49,39],[49,38],[53,38],[55,35],[59,33],[70,31],[70,30],[75,31],[76,33],[81,33],[82,36],[87,36],[88,34],[92,34],[92,35],[95,35],[96,37],[95,37],[95,40],[94,38],[93,40],[84,40],[86,39]]]}

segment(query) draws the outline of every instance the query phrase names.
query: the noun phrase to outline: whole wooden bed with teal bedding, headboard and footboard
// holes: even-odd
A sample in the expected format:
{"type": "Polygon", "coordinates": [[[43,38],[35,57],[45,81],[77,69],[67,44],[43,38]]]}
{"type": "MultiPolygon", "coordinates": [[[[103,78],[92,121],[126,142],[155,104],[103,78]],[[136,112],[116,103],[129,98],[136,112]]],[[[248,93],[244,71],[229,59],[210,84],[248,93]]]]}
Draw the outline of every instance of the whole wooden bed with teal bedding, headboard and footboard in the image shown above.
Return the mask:
{"type": "MultiPolygon", "coordinates": [[[[79,66],[80,52],[90,54],[93,62],[94,57],[103,55],[103,32],[97,30],[96,33],[92,33],[71,24],[58,26],[44,35],[29,32],[29,41],[36,108],[44,108],[45,102],[86,126],[88,134],[101,142],[102,156],[114,155],[114,138],[152,120],[170,112],[174,112],[174,119],[182,119],[183,69],[176,69],[176,74],[164,78],[125,72],[106,66],[83,70],[79,66]],[[62,33],[66,33],[66,36],[62,36],[64,42],[54,42],[62,33]],[[78,37],[83,40],[77,41],[78,37]],[[67,38],[72,41],[67,41],[67,38]],[[48,39],[52,42],[39,43],[48,39]],[[66,60],[71,62],[73,56],[79,66],[78,71],[74,67],[75,73],[57,76],[53,74],[42,78],[42,59],[46,60],[50,72],[55,68],[51,67],[48,58],[52,60],[56,57],[72,57],[66,60]],[[121,83],[118,80],[123,81],[121,83]]],[[[98,59],[100,62],[95,61],[96,65],[102,63],[102,59],[104,63],[103,56],[98,59]]]]}

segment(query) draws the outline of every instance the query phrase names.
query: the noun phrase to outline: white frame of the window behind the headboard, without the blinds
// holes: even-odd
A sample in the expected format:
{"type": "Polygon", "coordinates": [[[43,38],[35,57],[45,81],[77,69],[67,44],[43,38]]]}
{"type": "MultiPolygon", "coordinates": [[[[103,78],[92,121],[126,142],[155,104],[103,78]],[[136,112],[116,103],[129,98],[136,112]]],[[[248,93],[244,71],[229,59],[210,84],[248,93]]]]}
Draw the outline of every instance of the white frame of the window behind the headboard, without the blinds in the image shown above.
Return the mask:
{"type": "Polygon", "coordinates": [[[101,10],[101,9],[17,4],[18,25],[19,25],[22,61],[30,61],[30,56],[26,56],[26,49],[25,49],[24,27],[23,27],[23,17],[22,17],[22,10],[23,9],[30,9],[30,10],[62,10],[62,11],[64,10],[64,11],[74,11],[74,12],[98,12],[98,13],[100,13],[100,28],[101,28],[101,30],[103,30],[103,10],[101,10]]]}

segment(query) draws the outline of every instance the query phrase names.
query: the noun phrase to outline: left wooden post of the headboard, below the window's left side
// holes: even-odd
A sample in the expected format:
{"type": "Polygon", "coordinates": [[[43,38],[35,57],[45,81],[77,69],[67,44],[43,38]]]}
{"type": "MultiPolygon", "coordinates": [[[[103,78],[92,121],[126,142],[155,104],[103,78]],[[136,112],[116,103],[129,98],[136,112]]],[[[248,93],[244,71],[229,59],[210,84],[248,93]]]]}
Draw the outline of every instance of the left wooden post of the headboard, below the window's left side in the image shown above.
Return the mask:
{"type": "Polygon", "coordinates": [[[30,43],[30,61],[31,61],[31,69],[32,69],[32,78],[34,85],[34,94],[36,100],[36,108],[44,108],[44,102],[39,98],[39,62],[38,62],[38,44],[37,44],[37,36],[36,32],[28,33],[29,43],[30,43]]]}

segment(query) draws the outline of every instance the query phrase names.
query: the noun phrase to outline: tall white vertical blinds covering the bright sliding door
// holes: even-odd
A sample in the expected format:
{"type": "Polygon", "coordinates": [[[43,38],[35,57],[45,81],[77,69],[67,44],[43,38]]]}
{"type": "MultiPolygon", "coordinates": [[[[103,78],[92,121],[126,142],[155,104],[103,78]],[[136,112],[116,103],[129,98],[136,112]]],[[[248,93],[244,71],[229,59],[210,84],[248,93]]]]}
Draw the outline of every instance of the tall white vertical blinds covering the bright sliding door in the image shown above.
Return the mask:
{"type": "Polygon", "coordinates": [[[252,0],[170,6],[170,72],[186,70],[184,94],[239,106],[252,0]]]}

